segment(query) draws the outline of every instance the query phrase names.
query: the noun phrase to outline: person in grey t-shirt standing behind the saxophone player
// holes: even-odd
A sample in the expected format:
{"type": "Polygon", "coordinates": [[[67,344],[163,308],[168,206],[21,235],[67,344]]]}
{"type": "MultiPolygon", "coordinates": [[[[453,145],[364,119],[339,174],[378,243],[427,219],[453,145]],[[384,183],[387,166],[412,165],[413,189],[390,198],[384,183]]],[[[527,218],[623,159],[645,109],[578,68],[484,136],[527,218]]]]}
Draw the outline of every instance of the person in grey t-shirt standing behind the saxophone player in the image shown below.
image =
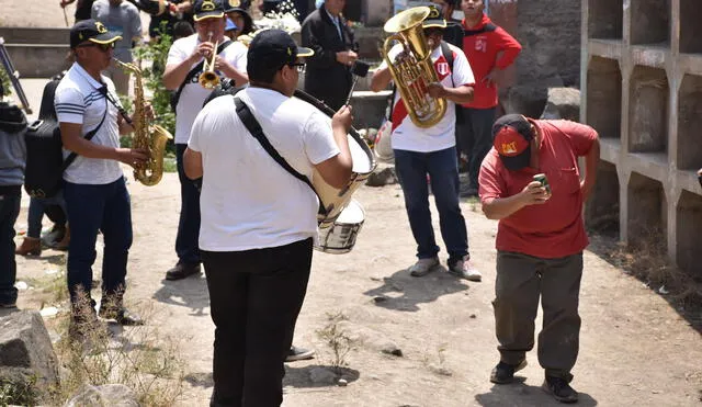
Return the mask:
{"type": "MultiPolygon", "coordinates": [[[[141,37],[141,18],[136,5],[124,0],[95,0],[90,15],[109,31],[120,33],[122,39],[115,42],[113,56],[125,64],[132,63],[132,46],[141,37]]],[[[128,95],[129,72],[113,64],[103,74],[112,79],[117,93],[128,95]]]]}

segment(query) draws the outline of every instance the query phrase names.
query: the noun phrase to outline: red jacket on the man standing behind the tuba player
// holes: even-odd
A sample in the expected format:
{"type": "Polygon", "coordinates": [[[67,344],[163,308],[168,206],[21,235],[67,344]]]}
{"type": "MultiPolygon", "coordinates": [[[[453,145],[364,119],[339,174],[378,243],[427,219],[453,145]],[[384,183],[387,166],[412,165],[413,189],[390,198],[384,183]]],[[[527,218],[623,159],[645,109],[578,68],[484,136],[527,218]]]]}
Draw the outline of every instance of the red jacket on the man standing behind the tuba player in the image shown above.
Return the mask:
{"type": "Polygon", "coordinates": [[[492,67],[501,70],[512,65],[522,50],[522,46],[505,30],[492,24],[485,14],[476,26],[466,27],[465,20],[462,24],[465,30],[463,52],[468,58],[475,76],[474,100],[463,106],[495,108],[497,105],[497,86],[487,86],[483,79],[492,70],[492,67]],[[501,55],[499,55],[500,52],[501,55]]]}

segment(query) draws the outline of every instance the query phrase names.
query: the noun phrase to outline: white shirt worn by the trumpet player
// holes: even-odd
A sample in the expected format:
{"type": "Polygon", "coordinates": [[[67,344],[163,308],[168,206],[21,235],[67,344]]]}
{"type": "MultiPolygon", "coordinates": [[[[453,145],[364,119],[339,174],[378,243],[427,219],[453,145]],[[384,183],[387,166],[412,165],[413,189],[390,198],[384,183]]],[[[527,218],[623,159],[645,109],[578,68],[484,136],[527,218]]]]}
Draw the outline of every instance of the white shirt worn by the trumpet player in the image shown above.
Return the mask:
{"type": "MultiPolygon", "coordinates": [[[[166,66],[179,65],[188,59],[200,45],[201,41],[197,34],[190,35],[184,38],[177,39],[168,52],[168,60],[166,66]]],[[[246,45],[234,42],[229,44],[219,55],[224,57],[239,72],[246,74],[247,53],[249,48],[246,45]]],[[[200,61],[193,64],[189,71],[200,61]]],[[[188,144],[190,138],[190,129],[193,126],[197,112],[202,109],[205,99],[212,93],[212,90],[205,89],[197,82],[197,78],[202,70],[190,80],[180,94],[178,105],[176,106],[176,144],[188,144]]],[[[224,74],[216,71],[220,79],[225,78],[224,74]]],[[[241,84],[241,83],[237,83],[241,84]]]]}

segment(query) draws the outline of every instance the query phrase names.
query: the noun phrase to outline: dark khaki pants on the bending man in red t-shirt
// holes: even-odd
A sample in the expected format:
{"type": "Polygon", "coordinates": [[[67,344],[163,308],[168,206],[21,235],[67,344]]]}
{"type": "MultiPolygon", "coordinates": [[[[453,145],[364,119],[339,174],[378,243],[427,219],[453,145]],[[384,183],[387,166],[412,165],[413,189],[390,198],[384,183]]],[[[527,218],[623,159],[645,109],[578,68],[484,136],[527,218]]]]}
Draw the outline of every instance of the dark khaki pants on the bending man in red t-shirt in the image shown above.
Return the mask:
{"type": "Polygon", "coordinates": [[[498,251],[492,306],[502,362],[519,364],[534,347],[534,319],[541,296],[544,318],[539,333],[539,363],[547,376],[573,378],[570,370],[578,358],[580,333],[581,276],[581,252],[540,259],[498,251]]]}

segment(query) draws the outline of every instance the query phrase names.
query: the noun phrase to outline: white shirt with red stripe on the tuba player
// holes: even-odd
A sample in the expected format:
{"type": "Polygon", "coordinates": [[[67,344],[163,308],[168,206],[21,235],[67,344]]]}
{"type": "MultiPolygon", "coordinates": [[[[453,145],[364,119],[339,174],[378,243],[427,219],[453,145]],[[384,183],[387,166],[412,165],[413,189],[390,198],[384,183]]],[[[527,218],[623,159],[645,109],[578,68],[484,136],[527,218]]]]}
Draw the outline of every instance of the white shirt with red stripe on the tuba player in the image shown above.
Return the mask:
{"type": "MultiPolygon", "coordinates": [[[[446,88],[475,84],[471,64],[468,64],[463,50],[451,44],[449,47],[453,53],[453,71],[440,46],[431,53],[431,60],[434,63],[434,70],[441,84],[446,88]]],[[[394,60],[401,49],[399,44],[395,45],[388,53],[389,59],[394,60]]],[[[385,67],[387,67],[387,63],[384,60],[381,68],[385,67]]],[[[455,103],[452,101],[446,100],[446,113],[439,123],[429,128],[421,128],[417,127],[407,114],[407,108],[400,99],[399,91],[395,93],[393,136],[390,137],[393,149],[431,152],[453,147],[456,144],[455,127],[455,103]]]]}

